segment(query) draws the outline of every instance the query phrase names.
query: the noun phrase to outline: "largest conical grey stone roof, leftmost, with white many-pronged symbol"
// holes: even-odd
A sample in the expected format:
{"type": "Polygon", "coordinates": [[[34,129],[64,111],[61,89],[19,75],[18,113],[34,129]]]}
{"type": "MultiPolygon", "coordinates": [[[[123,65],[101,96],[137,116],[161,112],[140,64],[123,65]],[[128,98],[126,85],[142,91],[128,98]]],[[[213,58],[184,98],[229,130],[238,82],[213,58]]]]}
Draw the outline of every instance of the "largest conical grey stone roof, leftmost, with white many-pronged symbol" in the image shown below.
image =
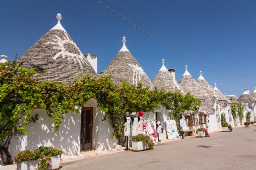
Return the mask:
{"type": "Polygon", "coordinates": [[[73,83],[79,74],[97,77],[91,64],[85,59],[75,41],[60,24],[61,15],[57,15],[58,24],[49,30],[35,45],[30,47],[17,63],[27,69],[36,67],[37,74],[47,70],[40,80],[73,83]]]}

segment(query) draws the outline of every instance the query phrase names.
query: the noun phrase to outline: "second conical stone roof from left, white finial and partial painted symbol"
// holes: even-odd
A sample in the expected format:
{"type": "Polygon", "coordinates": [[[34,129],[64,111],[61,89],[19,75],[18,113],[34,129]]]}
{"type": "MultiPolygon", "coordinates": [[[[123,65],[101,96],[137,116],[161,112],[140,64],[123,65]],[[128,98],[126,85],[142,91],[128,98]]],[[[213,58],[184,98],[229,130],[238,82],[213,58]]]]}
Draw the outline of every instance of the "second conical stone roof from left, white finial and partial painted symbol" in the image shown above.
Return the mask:
{"type": "Polygon", "coordinates": [[[129,84],[137,85],[141,80],[143,87],[149,87],[150,90],[154,90],[154,86],[149,80],[149,77],[139,65],[138,61],[126,48],[125,37],[123,37],[122,41],[122,49],[100,75],[111,75],[111,80],[117,85],[122,84],[121,80],[127,80],[129,84]]]}

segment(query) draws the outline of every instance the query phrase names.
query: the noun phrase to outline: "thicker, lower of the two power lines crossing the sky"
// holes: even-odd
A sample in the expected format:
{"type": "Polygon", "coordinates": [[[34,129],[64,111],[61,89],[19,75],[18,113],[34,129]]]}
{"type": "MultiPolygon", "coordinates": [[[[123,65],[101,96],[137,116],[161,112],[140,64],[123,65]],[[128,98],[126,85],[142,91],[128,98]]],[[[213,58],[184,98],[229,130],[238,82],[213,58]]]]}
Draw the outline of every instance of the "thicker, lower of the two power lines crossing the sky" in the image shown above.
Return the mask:
{"type": "Polygon", "coordinates": [[[197,60],[194,60],[192,58],[190,58],[189,56],[181,53],[180,51],[174,49],[173,47],[171,47],[170,45],[167,45],[166,43],[164,43],[163,41],[159,40],[158,38],[156,38],[154,35],[151,35],[149,34],[147,31],[143,30],[142,28],[140,28],[139,26],[133,24],[131,21],[129,21],[128,19],[124,18],[122,15],[118,14],[116,11],[112,10],[111,8],[109,8],[108,6],[106,6],[105,4],[103,4],[101,1],[99,0],[96,0],[97,2],[99,2],[101,5],[103,5],[104,7],[106,7],[108,10],[111,10],[113,13],[115,13],[117,16],[123,18],[123,20],[126,20],[128,23],[130,23],[131,25],[135,26],[136,28],[138,28],[139,30],[143,31],[145,34],[149,35],[150,37],[154,38],[155,40],[159,41],[161,44],[167,46],[168,48],[170,48],[171,50],[174,50],[175,52],[179,53],[180,55],[188,58],[189,60],[192,60],[193,62],[197,63],[198,65],[202,65],[203,67],[209,69],[209,70],[212,70],[220,75],[223,75],[225,77],[228,77],[230,79],[233,79],[233,80],[238,80],[238,81],[242,81],[242,82],[246,82],[246,83],[254,83],[254,82],[249,82],[249,81],[243,81],[243,80],[239,80],[239,79],[236,79],[236,78],[233,78],[233,77],[230,77],[228,75],[224,75],[223,73],[220,73],[219,71],[216,71],[216,70],[213,70],[212,68],[206,66],[206,65],[203,65],[202,63],[198,62],[197,60]]]}

